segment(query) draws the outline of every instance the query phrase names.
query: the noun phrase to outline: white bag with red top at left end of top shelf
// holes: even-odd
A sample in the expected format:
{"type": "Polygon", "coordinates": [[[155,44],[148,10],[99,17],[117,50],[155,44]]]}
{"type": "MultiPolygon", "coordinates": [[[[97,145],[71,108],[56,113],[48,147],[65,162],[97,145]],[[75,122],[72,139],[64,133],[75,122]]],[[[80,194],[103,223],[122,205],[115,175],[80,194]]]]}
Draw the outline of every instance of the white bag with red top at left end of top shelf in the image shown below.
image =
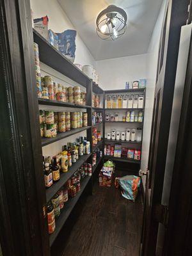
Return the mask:
{"type": "Polygon", "coordinates": [[[34,29],[40,35],[44,36],[44,38],[46,40],[48,40],[48,22],[49,22],[49,19],[48,19],[47,16],[44,16],[44,17],[33,20],[34,29]]]}

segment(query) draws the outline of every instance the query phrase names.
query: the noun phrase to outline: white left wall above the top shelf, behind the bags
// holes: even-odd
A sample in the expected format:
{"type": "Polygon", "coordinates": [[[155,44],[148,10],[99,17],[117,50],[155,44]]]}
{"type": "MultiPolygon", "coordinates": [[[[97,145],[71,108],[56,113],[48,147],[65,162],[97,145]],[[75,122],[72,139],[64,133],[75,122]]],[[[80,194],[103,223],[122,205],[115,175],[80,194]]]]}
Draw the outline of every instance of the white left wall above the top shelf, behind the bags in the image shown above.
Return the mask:
{"type": "MultiPolygon", "coordinates": [[[[49,18],[49,29],[56,33],[61,33],[66,29],[75,29],[56,0],[31,0],[31,9],[33,10],[34,19],[47,15],[49,18]]],[[[93,65],[95,67],[95,60],[78,33],[76,36],[75,63],[93,65]]]]}

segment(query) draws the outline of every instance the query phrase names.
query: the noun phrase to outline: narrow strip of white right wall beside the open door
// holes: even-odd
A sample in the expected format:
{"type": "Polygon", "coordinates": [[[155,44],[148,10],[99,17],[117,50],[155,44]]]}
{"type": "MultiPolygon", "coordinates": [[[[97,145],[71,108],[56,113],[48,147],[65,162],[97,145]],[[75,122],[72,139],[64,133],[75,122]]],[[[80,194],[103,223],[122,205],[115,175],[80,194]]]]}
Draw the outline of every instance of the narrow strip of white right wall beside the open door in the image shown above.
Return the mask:
{"type": "MultiPolygon", "coordinates": [[[[163,19],[165,16],[167,1],[164,0],[157,18],[156,26],[152,33],[152,38],[148,46],[147,57],[147,90],[145,100],[145,120],[143,127],[143,146],[142,146],[142,160],[141,169],[145,170],[148,165],[148,150],[150,143],[150,130],[152,124],[152,111],[154,105],[154,90],[156,85],[157,61],[159,52],[159,40],[161,36],[161,29],[163,26],[163,19]]],[[[143,177],[143,188],[145,189],[145,177],[143,177]]]]}

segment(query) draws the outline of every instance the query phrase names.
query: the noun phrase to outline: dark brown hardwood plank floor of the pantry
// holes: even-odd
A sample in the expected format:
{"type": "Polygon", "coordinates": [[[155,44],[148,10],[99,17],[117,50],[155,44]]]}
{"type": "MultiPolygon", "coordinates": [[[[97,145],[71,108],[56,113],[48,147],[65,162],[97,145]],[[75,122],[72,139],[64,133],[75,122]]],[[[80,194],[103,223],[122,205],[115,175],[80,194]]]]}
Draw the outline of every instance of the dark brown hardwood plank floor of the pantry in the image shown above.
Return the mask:
{"type": "Polygon", "coordinates": [[[139,256],[142,214],[140,195],[133,203],[114,183],[102,188],[95,182],[93,195],[81,198],[61,230],[52,256],[139,256]]]}

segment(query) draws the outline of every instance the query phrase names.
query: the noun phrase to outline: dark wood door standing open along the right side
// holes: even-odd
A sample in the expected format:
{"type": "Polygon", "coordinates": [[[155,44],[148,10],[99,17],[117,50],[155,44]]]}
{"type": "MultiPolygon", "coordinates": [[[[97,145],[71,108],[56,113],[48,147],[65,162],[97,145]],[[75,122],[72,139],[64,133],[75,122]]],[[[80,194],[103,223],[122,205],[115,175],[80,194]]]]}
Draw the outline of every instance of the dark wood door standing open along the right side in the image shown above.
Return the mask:
{"type": "MultiPolygon", "coordinates": [[[[157,130],[155,136],[155,147],[152,151],[154,160],[148,166],[150,173],[149,189],[150,206],[147,216],[147,229],[143,237],[142,256],[156,255],[157,231],[159,220],[156,218],[157,206],[161,205],[163,193],[164,170],[166,164],[166,152],[168,148],[168,136],[170,131],[170,119],[172,115],[172,102],[175,86],[175,75],[177,70],[177,58],[179,52],[180,29],[186,24],[188,19],[188,0],[168,1],[168,15],[166,22],[165,43],[159,51],[159,74],[157,74],[157,84],[155,97],[159,94],[159,113],[157,118],[157,130]],[[163,54],[161,52],[163,51],[163,54]],[[163,62],[161,60],[163,56],[163,62]],[[161,68],[162,67],[162,68],[161,68]]],[[[163,34],[163,33],[162,33],[163,34]]]]}

